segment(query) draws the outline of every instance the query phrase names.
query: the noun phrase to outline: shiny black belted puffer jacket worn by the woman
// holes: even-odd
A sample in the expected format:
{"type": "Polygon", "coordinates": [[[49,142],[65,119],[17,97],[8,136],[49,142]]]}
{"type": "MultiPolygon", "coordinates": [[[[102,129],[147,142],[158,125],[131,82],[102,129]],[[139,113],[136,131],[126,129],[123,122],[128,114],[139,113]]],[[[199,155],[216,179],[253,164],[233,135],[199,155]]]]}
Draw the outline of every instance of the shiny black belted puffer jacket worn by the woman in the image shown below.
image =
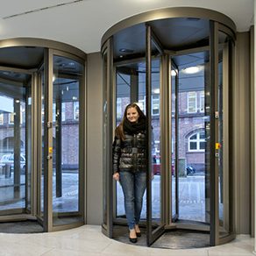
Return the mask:
{"type": "Polygon", "coordinates": [[[115,138],[113,144],[113,174],[146,171],[146,131],[124,132],[125,139],[115,138]]]}

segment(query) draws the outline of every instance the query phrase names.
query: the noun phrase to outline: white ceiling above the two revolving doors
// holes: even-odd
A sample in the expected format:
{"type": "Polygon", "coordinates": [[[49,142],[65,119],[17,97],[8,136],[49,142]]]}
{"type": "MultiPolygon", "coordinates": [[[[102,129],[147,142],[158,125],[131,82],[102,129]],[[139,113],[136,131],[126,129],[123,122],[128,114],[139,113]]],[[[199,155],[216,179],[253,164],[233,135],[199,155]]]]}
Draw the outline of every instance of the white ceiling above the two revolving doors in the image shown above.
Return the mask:
{"type": "Polygon", "coordinates": [[[238,32],[254,24],[253,0],[0,0],[0,39],[52,39],[95,53],[104,32],[124,18],[181,6],[222,12],[238,32]]]}

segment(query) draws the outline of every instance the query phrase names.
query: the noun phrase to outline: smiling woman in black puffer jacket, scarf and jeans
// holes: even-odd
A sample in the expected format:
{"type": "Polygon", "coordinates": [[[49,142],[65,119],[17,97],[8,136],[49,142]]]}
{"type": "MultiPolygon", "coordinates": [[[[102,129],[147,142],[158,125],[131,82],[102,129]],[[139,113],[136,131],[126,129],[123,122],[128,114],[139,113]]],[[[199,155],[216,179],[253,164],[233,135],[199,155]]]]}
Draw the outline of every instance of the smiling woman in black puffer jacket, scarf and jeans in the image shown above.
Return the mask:
{"type": "Polygon", "coordinates": [[[117,126],[113,145],[113,177],[124,192],[124,210],[130,241],[141,236],[139,219],[146,189],[146,116],[137,104],[129,104],[117,126]]]}

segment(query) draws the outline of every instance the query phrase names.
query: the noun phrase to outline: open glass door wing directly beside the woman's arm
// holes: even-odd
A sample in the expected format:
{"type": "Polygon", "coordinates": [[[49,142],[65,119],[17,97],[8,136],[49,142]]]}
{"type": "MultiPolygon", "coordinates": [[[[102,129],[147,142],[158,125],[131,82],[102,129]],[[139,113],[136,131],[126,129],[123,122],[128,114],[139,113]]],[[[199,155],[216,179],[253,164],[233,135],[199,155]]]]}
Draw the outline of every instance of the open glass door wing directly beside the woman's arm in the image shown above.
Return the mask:
{"type": "Polygon", "coordinates": [[[146,116],[148,175],[146,190],[147,210],[147,245],[152,245],[164,232],[162,200],[162,177],[165,175],[165,165],[161,167],[161,124],[160,106],[163,77],[161,65],[163,50],[159,40],[153,34],[151,27],[146,26],[146,116]],[[160,56],[160,57],[159,57],[160,56]]]}

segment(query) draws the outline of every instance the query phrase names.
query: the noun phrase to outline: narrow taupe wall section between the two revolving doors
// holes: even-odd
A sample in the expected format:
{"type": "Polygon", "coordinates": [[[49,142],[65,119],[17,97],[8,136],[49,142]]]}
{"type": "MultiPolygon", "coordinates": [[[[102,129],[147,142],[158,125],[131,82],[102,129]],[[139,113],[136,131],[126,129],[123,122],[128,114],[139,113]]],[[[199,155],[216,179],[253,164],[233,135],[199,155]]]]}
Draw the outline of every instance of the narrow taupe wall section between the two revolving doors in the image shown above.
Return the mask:
{"type": "Polygon", "coordinates": [[[103,62],[87,55],[87,192],[86,223],[103,223],[103,62]]]}

